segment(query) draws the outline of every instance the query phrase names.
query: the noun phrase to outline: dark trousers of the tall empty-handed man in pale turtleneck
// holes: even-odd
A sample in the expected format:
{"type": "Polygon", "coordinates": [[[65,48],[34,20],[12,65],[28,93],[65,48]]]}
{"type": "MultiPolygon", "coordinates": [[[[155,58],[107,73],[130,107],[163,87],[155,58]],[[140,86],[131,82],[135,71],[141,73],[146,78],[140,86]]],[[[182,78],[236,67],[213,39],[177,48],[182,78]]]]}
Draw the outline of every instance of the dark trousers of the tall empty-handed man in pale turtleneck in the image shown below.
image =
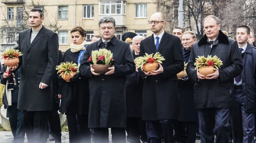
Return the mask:
{"type": "Polygon", "coordinates": [[[23,117],[28,143],[46,143],[49,111],[23,110],[23,117]]]}

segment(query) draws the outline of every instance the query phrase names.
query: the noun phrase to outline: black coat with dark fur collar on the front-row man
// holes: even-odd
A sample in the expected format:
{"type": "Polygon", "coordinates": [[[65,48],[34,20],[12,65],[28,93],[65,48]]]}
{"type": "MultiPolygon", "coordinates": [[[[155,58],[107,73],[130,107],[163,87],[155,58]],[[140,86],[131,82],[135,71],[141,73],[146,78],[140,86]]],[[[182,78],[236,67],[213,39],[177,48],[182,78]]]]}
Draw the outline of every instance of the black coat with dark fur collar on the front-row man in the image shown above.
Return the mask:
{"type": "Polygon", "coordinates": [[[186,73],[194,83],[194,103],[196,109],[230,108],[233,99],[234,78],[241,74],[243,61],[235,40],[219,31],[218,37],[211,46],[206,35],[192,45],[186,73]],[[211,48],[212,47],[212,48],[211,48]],[[218,56],[223,65],[219,68],[217,79],[197,78],[195,58],[208,55],[218,56]]]}

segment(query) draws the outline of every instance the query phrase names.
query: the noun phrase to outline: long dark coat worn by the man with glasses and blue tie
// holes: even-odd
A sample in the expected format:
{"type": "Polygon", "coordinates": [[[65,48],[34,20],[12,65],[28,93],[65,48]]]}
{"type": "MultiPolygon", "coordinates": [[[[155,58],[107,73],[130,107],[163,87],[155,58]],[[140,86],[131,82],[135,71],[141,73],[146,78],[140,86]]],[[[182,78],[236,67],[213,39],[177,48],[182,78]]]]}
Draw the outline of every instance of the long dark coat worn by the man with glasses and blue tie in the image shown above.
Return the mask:
{"type": "Polygon", "coordinates": [[[143,120],[163,120],[178,118],[177,73],[183,70],[183,54],[180,39],[164,32],[158,51],[154,44],[154,35],[140,43],[140,56],[145,53],[160,52],[166,59],[163,61],[163,73],[156,76],[145,76],[143,87],[143,120]]]}

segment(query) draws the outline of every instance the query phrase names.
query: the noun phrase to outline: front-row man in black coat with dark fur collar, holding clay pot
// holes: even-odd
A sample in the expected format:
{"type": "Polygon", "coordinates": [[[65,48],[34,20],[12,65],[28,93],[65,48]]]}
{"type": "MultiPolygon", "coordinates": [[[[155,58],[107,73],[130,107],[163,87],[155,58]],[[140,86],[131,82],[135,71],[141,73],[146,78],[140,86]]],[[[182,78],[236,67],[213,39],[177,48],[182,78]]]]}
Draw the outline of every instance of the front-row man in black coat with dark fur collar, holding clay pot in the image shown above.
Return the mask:
{"type": "Polygon", "coordinates": [[[201,143],[229,142],[229,113],[233,98],[234,78],[241,74],[243,62],[237,42],[220,31],[218,17],[209,15],[204,19],[205,35],[192,45],[186,72],[194,83],[194,104],[198,109],[201,143]],[[223,65],[209,78],[204,79],[195,70],[195,58],[218,56],[223,65]]]}

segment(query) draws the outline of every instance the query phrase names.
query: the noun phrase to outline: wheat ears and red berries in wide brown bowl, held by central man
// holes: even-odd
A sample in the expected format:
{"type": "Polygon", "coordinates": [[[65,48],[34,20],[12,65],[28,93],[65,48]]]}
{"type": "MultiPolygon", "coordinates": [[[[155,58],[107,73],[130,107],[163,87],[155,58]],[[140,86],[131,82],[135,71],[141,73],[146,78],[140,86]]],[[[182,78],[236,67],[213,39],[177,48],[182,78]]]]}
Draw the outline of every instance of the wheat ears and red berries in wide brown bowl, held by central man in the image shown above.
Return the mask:
{"type": "Polygon", "coordinates": [[[92,51],[92,56],[89,57],[90,64],[109,64],[114,65],[116,62],[112,59],[113,54],[110,50],[99,49],[92,51]]]}

